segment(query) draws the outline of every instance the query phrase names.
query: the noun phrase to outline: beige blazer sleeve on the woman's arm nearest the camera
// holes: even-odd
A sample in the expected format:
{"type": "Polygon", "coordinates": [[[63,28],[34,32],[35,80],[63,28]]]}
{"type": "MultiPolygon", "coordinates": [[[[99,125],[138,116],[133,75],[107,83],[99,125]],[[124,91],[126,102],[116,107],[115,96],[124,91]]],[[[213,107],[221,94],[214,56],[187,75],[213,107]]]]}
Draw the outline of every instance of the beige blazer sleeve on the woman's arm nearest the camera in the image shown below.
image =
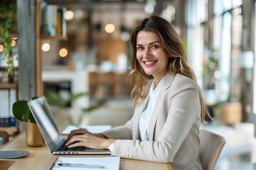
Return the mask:
{"type": "MultiPolygon", "coordinates": [[[[173,81],[160,111],[168,108],[166,122],[156,141],[116,140],[113,156],[141,159],[150,162],[172,162],[178,148],[191,130],[196,116],[200,116],[198,87],[191,79],[173,81]]],[[[159,113],[161,114],[161,113],[159,113]]],[[[156,124],[157,125],[157,124],[156,124]]]]}

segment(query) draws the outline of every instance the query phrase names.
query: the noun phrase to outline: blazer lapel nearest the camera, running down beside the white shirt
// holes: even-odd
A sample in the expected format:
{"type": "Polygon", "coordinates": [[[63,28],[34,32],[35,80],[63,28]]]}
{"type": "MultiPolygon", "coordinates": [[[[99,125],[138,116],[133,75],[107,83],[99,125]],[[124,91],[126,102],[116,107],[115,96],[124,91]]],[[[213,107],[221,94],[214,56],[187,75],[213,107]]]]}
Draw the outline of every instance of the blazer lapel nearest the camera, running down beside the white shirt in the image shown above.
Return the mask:
{"type": "Polygon", "coordinates": [[[175,75],[166,73],[164,77],[163,85],[159,91],[159,95],[157,96],[157,103],[155,103],[153,113],[151,115],[151,118],[149,120],[149,141],[154,140],[154,130],[156,126],[156,120],[159,115],[159,110],[163,106],[162,103],[164,103],[164,94],[166,93],[166,90],[169,89],[171,86],[172,81],[174,80],[175,75]]]}

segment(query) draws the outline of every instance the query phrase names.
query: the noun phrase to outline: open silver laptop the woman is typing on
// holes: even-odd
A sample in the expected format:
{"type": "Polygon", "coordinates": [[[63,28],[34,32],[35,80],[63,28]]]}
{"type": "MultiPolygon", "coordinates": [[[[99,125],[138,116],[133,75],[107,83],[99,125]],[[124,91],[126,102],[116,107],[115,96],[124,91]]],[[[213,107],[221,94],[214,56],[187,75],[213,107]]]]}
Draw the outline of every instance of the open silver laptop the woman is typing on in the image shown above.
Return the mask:
{"type": "Polygon", "coordinates": [[[36,120],[39,130],[52,154],[111,154],[108,149],[90,149],[87,147],[65,147],[67,140],[63,139],[58,129],[53,113],[44,96],[28,101],[28,107],[36,120]]]}

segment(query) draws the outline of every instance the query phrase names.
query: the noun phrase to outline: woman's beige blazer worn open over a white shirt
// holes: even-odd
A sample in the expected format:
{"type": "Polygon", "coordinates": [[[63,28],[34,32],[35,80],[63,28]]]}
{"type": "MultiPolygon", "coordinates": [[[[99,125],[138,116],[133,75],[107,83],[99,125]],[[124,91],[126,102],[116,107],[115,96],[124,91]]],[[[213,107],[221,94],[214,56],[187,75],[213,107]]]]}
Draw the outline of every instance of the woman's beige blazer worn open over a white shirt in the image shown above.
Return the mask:
{"type": "MultiPolygon", "coordinates": [[[[144,87],[144,93],[149,94],[151,82],[144,87]]],[[[201,107],[197,84],[181,74],[166,74],[149,121],[149,141],[142,142],[139,118],[148,101],[149,95],[140,99],[134,115],[125,125],[103,132],[109,139],[117,139],[112,155],[170,162],[175,170],[202,169],[199,160],[201,107]]]]}

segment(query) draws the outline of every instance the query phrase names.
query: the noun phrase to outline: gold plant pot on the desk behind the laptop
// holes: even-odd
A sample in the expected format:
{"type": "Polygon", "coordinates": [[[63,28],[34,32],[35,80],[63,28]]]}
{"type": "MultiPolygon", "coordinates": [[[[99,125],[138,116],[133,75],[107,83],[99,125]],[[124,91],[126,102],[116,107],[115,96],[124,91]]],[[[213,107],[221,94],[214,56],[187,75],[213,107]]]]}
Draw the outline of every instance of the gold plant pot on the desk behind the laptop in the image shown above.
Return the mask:
{"type": "Polygon", "coordinates": [[[42,147],[44,145],[43,136],[34,123],[26,123],[26,145],[28,147],[42,147]]]}

